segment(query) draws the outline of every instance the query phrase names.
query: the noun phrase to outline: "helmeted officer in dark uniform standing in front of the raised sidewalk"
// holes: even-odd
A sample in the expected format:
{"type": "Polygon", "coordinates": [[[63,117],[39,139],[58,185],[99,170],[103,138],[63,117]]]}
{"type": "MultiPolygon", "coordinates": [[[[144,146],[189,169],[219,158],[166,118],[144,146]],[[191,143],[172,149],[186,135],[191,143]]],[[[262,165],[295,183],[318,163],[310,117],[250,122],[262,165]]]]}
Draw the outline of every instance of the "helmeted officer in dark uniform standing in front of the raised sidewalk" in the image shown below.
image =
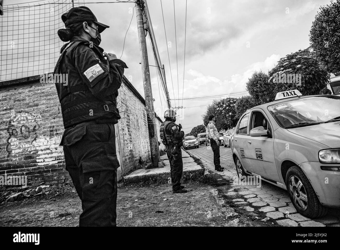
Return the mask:
{"type": "Polygon", "coordinates": [[[176,112],[167,110],[164,112],[165,122],[160,126],[160,139],[167,148],[167,156],[170,162],[170,173],[173,193],[186,193],[187,190],[181,185],[183,172],[182,139],[184,132],[181,124],[177,125],[176,112]]]}

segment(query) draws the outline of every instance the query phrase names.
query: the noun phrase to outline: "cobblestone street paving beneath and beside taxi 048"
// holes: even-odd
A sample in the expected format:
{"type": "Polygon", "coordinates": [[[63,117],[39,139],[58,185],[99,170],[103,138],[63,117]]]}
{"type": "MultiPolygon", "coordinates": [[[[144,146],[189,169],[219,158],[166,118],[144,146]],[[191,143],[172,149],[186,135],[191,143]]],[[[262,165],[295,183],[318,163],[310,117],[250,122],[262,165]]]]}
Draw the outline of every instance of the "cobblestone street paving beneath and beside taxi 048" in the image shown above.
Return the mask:
{"type": "MultiPolygon", "coordinates": [[[[253,216],[273,219],[279,226],[302,226],[302,227],[324,227],[324,226],[340,226],[340,210],[332,209],[328,215],[318,218],[309,219],[297,213],[287,191],[271,185],[265,181],[261,185],[234,185],[233,181],[237,178],[235,164],[232,159],[230,147],[220,147],[221,166],[224,167],[223,172],[215,170],[213,162],[212,150],[208,150],[205,145],[198,149],[186,150],[191,156],[200,159],[201,162],[209,169],[211,173],[217,173],[226,182],[229,182],[229,189],[226,194],[227,199],[232,201],[234,205],[250,212],[253,216]]],[[[221,179],[219,179],[221,180],[221,179]]]]}

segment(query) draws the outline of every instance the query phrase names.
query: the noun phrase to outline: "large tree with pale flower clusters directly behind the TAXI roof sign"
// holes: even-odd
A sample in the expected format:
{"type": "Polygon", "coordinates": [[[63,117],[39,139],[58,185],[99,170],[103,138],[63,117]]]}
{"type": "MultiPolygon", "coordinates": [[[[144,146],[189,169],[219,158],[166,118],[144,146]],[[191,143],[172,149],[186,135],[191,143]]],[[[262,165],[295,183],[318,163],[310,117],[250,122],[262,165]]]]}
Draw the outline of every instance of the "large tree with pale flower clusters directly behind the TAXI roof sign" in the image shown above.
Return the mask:
{"type": "Polygon", "coordinates": [[[269,71],[269,83],[274,93],[297,89],[303,95],[318,95],[329,81],[329,73],[319,63],[315,53],[299,50],[281,58],[269,71]]]}

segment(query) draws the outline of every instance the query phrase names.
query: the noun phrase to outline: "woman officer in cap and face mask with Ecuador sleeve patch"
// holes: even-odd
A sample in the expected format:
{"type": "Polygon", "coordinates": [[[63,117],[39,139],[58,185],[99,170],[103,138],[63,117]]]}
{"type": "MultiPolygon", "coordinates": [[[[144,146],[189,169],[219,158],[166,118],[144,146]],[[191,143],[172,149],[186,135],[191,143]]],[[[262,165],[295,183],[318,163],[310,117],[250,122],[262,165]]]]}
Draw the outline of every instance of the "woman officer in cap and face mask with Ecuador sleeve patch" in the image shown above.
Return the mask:
{"type": "Polygon", "coordinates": [[[126,64],[99,47],[107,25],[88,7],[62,15],[66,29],[55,74],[64,122],[61,146],[65,165],[82,201],[79,226],[116,226],[117,168],[114,124],[120,119],[116,98],[126,64]],[[106,57],[106,58],[105,58],[106,57]]]}

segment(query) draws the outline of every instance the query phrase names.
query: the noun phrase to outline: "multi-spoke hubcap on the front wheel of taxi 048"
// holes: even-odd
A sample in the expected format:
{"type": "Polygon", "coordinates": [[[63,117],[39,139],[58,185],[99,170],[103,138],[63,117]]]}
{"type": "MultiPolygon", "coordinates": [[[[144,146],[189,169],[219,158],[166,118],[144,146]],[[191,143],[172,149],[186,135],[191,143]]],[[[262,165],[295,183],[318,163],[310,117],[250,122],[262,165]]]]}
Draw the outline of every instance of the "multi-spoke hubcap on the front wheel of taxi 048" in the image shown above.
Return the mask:
{"type": "Polygon", "coordinates": [[[299,177],[289,177],[289,193],[297,207],[306,210],[308,206],[307,192],[299,177]]]}

